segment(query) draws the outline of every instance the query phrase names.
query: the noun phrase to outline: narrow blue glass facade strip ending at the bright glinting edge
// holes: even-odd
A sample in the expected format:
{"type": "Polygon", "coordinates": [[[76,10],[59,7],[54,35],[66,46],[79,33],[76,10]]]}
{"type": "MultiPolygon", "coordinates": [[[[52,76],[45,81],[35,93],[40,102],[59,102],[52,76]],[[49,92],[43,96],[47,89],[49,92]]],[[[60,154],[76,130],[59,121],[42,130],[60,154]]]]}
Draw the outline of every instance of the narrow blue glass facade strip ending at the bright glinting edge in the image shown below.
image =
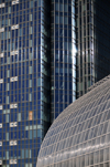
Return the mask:
{"type": "Polygon", "coordinates": [[[75,0],[51,3],[51,121],[75,101],[75,0]]]}

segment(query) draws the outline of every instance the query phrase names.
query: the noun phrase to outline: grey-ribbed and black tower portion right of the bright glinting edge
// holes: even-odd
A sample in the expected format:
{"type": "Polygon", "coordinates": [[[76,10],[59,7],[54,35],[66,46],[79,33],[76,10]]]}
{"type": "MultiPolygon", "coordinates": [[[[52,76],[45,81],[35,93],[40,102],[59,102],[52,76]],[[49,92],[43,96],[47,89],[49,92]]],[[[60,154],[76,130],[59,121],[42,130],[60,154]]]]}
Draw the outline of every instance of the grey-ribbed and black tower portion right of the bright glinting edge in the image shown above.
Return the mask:
{"type": "Polygon", "coordinates": [[[77,97],[110,73],[110,3],[76,0],[77,97]]]}

